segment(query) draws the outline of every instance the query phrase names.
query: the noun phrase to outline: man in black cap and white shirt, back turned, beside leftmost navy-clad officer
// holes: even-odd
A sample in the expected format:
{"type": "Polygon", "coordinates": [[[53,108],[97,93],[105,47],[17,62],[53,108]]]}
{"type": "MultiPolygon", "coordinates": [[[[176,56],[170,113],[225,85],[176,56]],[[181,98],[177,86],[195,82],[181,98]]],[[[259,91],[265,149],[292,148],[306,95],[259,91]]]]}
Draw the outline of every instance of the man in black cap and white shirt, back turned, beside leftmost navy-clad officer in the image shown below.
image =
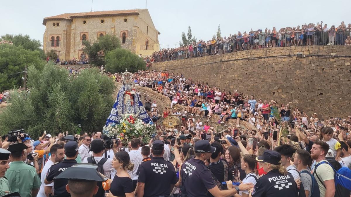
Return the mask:
{"type": "Polygon", "coordinates": [[[105,151],[104,142],[102,142],[102,140],[93,140],[90,143],[90,149],[93,151],[93,156],[84,158],[83,163],[98,164],[101,161],[103,163],[102,168],[104,169],[104,175],[110,177],[111,171],[114,169],[112,167],[113,158],[102,157],[105,151]]]}

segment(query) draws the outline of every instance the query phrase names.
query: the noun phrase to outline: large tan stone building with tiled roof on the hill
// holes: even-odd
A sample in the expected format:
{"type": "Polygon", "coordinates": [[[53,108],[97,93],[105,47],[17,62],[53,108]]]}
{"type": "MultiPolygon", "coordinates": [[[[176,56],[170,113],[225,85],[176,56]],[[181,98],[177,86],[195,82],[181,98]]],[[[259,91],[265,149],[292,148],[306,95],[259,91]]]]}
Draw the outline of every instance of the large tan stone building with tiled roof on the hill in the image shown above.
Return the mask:
{"type": "Polygon", "coordinates": [[[159,49],[158,35],[147,9],[66,13],[44,18],[43,49],[60,59],[86,57],[83,40],[91,43],[106,34],[120,38],[122,48],[143,56],[159,49]]]}

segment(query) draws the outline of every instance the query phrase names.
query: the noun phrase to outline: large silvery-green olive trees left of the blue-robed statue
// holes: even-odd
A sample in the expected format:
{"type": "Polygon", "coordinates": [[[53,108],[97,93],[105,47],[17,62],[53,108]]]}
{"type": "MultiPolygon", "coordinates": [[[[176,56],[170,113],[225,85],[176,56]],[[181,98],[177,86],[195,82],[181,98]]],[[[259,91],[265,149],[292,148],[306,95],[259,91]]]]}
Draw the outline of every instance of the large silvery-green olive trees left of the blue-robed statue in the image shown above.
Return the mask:
{"type": "Polygon", "coordinates": [[[84,69],[69,77],[66,69],[49,62],[42,70],[28,69],[29,93],[11,91],[9,102],[0,114],[1,135],[11,129],[25,129],[33,137],[42,131],[57,135],[101,131],[113,106],[114,83],[98,69],[84,69]]]}

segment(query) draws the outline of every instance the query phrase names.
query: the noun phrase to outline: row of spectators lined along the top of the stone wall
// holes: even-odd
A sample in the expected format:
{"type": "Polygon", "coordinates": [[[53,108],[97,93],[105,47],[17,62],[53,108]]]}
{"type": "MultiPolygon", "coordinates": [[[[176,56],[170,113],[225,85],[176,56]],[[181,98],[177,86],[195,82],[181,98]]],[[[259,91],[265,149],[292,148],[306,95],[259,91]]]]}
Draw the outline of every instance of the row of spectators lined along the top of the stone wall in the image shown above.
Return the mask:
{"type": "Polygon", "coordinates": [[[257,29],[248,32],[230,34],[228,37],[217,37],[208,41],[199,40],[188,46],[162,49],[154,52],[150,59],[155,62],[185,59],[231,53],[239,50],[259,49],[267,47],[287,46],[316,46],[316,45],[345,45],[351,46],[351,23],[347,26],[344,21],[339,26],[321,23],[305,23],[297,27],[283,27],[279,30],[257,29]]]}

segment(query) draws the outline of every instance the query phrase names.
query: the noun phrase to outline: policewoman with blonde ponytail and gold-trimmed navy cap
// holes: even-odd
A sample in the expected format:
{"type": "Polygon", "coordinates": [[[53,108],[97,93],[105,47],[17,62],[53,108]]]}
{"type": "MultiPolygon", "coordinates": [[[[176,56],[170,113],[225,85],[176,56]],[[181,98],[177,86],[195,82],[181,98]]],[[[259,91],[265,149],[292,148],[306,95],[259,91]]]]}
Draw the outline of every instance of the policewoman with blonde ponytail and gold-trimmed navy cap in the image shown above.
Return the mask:
{"type": "Polygon", "coordinates": [[[256,157],[266,175],[260,177],[252,191],[252,197],[297,197],[297,185],[294,177],[282,166],[279,152],[266,150],[256,157]]]}

